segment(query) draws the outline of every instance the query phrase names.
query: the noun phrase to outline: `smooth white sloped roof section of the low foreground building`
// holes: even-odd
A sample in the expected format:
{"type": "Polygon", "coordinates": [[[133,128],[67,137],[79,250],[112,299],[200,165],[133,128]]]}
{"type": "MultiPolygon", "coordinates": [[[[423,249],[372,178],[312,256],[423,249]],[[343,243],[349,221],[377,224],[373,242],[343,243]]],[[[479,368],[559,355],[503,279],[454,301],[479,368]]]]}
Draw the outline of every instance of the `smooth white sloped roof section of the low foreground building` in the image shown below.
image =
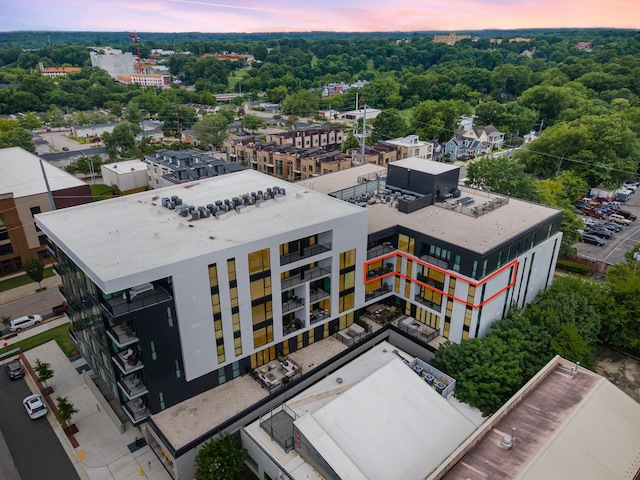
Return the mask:
{"type": "Polygon", "coordinates": [[[295,425],[340,478],[370,480],[422,479],[475,429],[395,355],[295,425]]]}

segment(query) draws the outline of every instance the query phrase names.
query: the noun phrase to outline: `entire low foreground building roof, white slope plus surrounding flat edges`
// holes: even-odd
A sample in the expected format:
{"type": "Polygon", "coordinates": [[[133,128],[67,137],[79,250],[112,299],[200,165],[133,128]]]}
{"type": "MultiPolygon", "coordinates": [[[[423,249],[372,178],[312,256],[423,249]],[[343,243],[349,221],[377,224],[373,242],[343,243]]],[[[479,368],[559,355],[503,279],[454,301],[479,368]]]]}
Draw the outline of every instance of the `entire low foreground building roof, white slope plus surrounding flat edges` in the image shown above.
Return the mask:
{"type": "MultiPolygon", "coordinates": [[[[285,403],[340,478],[423,479],[476,429],[403,358],[411,357],[381,342],[285,403]]],[[[271,441],[260,421],[246,431],[295,478],[320,478],[271,441]]]]}

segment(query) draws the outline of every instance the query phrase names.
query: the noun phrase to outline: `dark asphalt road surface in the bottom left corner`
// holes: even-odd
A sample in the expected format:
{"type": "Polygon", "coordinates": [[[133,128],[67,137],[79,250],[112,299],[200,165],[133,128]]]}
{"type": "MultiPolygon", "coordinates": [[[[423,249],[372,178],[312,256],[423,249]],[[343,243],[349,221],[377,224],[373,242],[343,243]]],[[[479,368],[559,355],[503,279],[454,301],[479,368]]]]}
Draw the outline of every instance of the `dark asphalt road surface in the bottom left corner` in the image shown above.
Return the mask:
{"type": "MultiPolygon", "coordinates": [[[[0,375],[0,432],[22,480],[79,480],[79,476],[46,417],[31,420],[22,400],[31,395],[24,379],[0,375]]],[[[5,468],[3,462],[0,472],[5,468]]],[[[8,466],[8,470],[11,466],[8,466]]]]}

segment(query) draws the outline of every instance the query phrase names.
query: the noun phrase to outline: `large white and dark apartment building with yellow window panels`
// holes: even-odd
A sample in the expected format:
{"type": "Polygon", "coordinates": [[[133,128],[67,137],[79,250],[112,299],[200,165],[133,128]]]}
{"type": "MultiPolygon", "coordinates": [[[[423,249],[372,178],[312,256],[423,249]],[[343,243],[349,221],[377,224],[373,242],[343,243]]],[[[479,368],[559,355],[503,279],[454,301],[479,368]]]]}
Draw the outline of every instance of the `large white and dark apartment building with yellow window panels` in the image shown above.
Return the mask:
{"type": "Polygon", "coordinates": [[[437,162],[383,172],[290,184],[246,170],[37,216],[75,341],[132,422],[376,303],[460,342],[548,286],[560,210],[459,187],[437,162]]]}

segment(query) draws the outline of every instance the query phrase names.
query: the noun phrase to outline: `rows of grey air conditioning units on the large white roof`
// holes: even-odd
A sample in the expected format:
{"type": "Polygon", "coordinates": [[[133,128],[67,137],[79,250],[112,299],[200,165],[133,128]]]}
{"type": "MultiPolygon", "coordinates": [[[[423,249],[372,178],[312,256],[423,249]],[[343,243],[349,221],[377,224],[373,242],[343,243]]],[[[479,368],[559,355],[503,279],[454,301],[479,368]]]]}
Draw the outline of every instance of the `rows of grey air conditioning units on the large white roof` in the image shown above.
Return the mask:
{"type": "Polygon", "coordinates": [[[222,218],[231,211],[242,213],[249,205],[260,206],[270,199],[280,199],[286,195],[282,187],[267,188],[266,191],[243,193],[232,199],[216,200],[204,206],[186,205],[177,195],[162,198],[162,206],[169,210],[175,210],[181,217],[191,216],[191,220],[216,217],[222,218]]]}

